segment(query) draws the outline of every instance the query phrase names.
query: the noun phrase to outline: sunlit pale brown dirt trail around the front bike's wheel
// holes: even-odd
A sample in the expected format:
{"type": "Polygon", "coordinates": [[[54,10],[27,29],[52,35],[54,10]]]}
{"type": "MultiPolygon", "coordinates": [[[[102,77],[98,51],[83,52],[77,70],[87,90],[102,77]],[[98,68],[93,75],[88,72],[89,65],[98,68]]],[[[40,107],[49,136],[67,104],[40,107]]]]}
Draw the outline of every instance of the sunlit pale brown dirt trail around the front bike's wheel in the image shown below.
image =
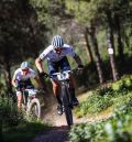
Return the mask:
{"type": "MultiPolygon", "coordinates": [[[[82,94],[81,96],[81,99],[84,98],[87,98],[87,94],[82,94]]],[[[79,97],[78,97],[78,100],[79,97]]],[[[58,116],[57,114],[57,110],[56,110],[56,99],[53,95],[50,95],[48,98],[45,100],[45,106],[46,108],[43,110],[42,112],[42,120],[43,122],[50,122],[52,123],[53,125],[55,127],[62,127],[62,125],[67,125],[66,123],[66,119],[65,119],[65,114],[63,116],[58,116]]],[[[81,122],[95,122],[95,121],[98,121],[98,120],[102,120],[102,119],[107,119],[109,118],[111,114],[100,114],[100,116],[94,116],[94,117],[90,117],[90,118],[76,118],[74,117],[74,123],[81,123],[81,122]]]]}

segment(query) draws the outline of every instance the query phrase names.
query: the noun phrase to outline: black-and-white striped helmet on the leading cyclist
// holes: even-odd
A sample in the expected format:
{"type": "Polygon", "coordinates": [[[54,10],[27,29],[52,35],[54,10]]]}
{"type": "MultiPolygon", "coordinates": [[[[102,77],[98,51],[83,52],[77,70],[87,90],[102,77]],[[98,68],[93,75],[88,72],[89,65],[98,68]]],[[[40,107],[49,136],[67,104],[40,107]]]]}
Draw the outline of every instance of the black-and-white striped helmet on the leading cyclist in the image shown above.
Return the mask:
{"type": "Polygon", "coordinates": [[[52,40],[52,45],[54,48],[63,47],[64,41],[59,35],[55,35],[52,40]]]}

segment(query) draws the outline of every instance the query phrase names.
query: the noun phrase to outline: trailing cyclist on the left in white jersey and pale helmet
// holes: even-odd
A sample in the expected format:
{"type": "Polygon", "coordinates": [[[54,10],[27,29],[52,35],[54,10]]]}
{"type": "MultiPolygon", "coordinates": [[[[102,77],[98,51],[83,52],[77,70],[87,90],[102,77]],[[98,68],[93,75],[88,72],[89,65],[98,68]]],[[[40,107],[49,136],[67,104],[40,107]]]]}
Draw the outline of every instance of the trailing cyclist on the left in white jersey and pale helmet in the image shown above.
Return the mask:
{"type": "Polygon", "coordinates": [[[22,91],[21,89],[24,87],[24,89],[33,89],[34,86],[31,83],[31,78],[34,78],[38,86],[41,86],[41,81],[38,77],[36,76],[35,72],[30,68],[28,62],[23,62],[14,72],[13,78],[12,78],[12,85],[15,87],[16,98],[18,98],[18,108],[21,108],[22,106],[22,91]]]}

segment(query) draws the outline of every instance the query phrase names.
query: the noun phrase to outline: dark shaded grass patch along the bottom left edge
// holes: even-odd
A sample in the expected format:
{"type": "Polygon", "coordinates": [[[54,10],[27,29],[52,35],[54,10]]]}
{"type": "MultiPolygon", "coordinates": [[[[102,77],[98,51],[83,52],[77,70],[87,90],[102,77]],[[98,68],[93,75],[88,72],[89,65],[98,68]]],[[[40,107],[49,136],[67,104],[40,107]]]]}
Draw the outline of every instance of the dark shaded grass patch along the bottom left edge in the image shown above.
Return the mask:
{"type": "Polygon", "coordinates": [[[50,129],[47,124],[41,122],[28,122],[18,127],[4,129],[2,133],[3,142],[29,142],[36,134],[50,129]]]}

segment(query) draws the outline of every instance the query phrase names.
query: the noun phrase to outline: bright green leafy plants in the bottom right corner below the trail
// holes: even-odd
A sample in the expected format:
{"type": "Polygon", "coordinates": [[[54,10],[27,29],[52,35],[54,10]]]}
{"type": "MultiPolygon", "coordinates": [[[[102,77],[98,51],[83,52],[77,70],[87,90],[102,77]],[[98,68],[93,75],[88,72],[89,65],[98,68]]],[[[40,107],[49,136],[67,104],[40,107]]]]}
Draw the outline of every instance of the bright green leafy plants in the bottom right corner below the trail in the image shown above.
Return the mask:
{"type": "Polygon", "coordinates": [[[72,142],[132,141],[132,108],[116,110],[112,118],[96,123],[75,124],[69,133],[72,142]]]}

